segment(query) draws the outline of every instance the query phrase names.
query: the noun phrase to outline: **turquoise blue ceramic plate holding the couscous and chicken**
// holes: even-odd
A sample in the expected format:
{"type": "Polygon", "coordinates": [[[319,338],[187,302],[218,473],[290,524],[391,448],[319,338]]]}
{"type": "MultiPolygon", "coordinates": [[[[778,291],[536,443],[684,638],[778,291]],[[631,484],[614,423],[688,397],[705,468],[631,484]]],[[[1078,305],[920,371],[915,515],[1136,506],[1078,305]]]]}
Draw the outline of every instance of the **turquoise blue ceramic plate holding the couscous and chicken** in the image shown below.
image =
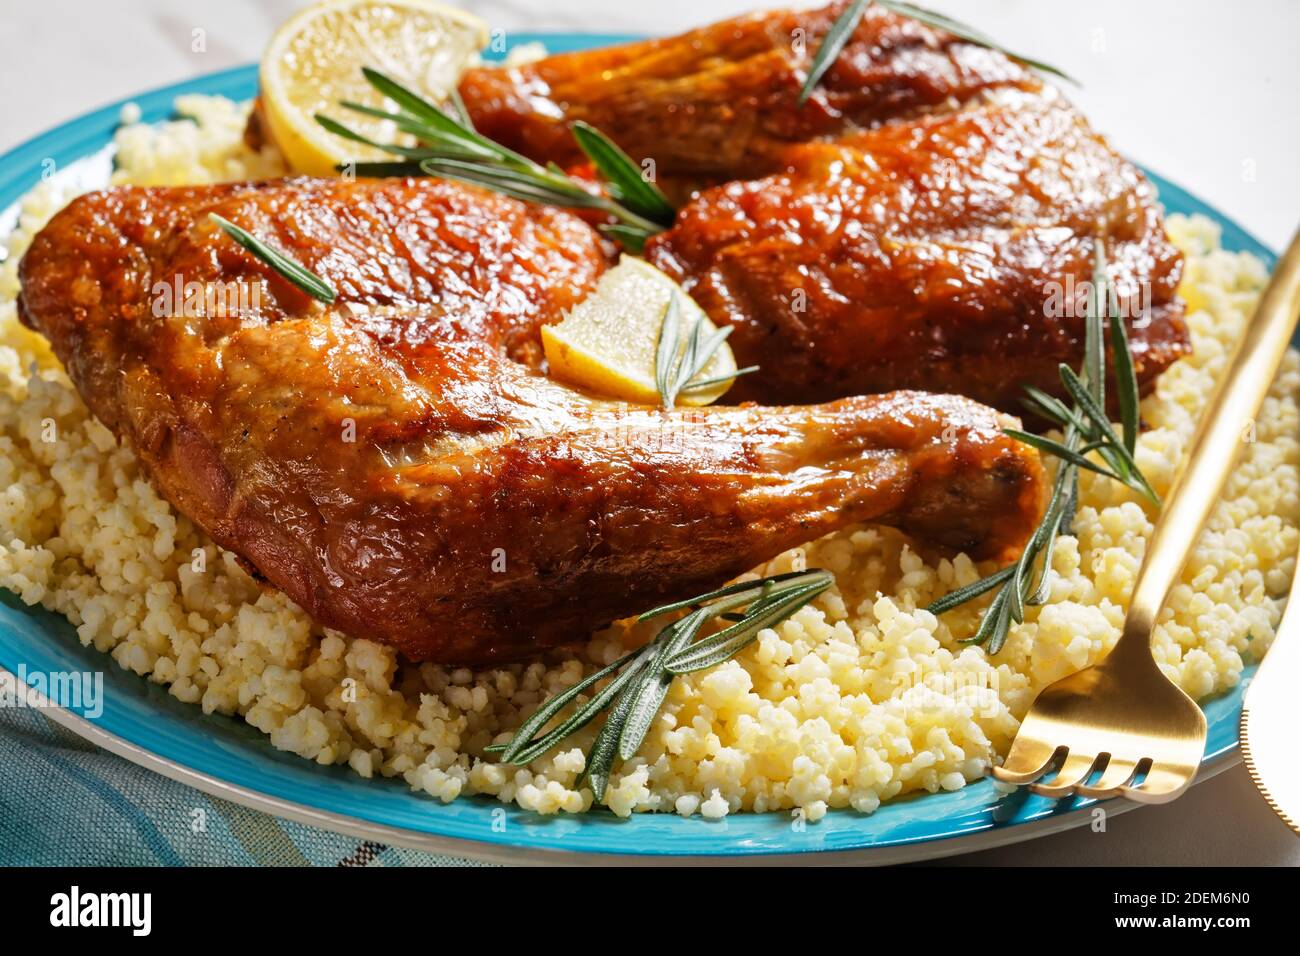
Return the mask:
{"type": "MultiPolygon", "coordinates": [[[[543,42],[552,52],[581,49],[623,36],[516,35],[515,43],[543,42]]],[[[214,73],[134,98],[146,121],[172,114],[179,94],[248,99],[256,69],[214,73]]],[[[14,221],[14,203],[51,168],[58,176],[104,185],[121,104],[113,104],[36,137],[0,160],[0,234],[14,221]]],[[[1170,212],[1205,213],[1223,228],[1223,246],[1273,264],[1273,254],[1244,229],[1178,186],[1152,176],[1170,212]]],[[[619,819],[597,812],[543,818],[486,799],[442,805],[412,793],[402,780],[364,780],[344,767],[321,767],[273,749],[243,722],[204,715],[169,697],[156,684],[120,670],[83,648],[72,626],[0,592],[0,667],[27,672],[104,670],[104,710],[94,721],[73,710],[55,719],[87,739],[173,779],[255,809],[387,843],[499,861],[624,857],[715,857],[736,862],[801,857],[807,862],[897,862],[998,845],[1087,822],[1095,801],[1053,803],[1037,796],[997,793],[988,780],[956,793],[933,793],[885,804],[862,816],[835,810],[815,825],[793,827],[781,813],[740,814],[723,821],[638,814],[619,819]],[[810,855],[816,855],[810,856],[810,855]]],[[[1248,671],[1249,674],[1249,671],[1248,671]]],[[[1201,779],[1236,762],[1242,688],[1209,701],[1209,739],[1201,779]]],[[[1127,809],[1122,801],[1109,813],[1127,809]]]]}

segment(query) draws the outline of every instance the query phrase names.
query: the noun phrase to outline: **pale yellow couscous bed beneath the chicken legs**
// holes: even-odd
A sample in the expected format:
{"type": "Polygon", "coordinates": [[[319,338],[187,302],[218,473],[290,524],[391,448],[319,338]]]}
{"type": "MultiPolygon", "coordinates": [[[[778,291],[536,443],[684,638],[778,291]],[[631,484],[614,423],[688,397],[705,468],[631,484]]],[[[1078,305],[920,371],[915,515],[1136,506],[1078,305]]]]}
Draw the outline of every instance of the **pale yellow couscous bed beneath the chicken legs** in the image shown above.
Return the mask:
{"type": "MultiPolygon", "coordinates": [[[[243,144],[246,105],[186,96],[177,108],[191,120],[153,127],[124,114],[114,182],[283,172],[273,151],[243,144]]],[[[0,585],[65,615],[120,666],[205,711],[243,717],[283,750],[402,777],[443,801],[480,793],[540,813],[588,809],[592,793],[575,782],[597,726],[526,769],[484,760],[484,748],[650,635],[616,627],[580,652],[494,670],[402,665],[259,587],[155,493],[44,341],[18,324],[18,259],[70,198],[38,186],[0,265],[0,585]]],[[[1169,229],[1187,255],[1195,355],[1143,403],[1138,462],[1160,493],[1266,280],[1258,260],[1218,247],[1212,222],[1173,216],[1169,229]]],[[[1297,390],[1291,354],[1156,628],[1161,667],[1197,698],[1235,685],[1273,640],[1300,520],[1297,390]]],[[[641,754],[615,766],[606,804],[620,816],[801,808],[815,821],[829,808],[868,813],[901,793],[979,779],[1037,689],[1118,637],[1150,531],[1132,492],[1084,473],[1074,535],[1056,544],[1052,598],[1028,609],[993,657],[958,643],[982,604],[941,619],[922,610],[989,567],[872,527],[783,554],[758,571],[818,566],[836,587],[734,659],[673,682],[641,754]]]]}

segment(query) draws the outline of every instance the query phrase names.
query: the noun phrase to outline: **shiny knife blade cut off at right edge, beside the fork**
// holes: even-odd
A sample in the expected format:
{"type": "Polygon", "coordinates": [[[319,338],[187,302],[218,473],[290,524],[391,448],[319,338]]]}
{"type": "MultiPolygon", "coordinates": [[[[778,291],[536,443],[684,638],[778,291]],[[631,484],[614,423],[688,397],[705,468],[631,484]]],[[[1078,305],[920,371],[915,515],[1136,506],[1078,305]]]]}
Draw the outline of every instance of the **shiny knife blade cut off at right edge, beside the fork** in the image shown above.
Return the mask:
{"type": "Polygon", "coordinates": [[[1300,575],[1278,624],[1273,646],[1256,671],[1242,705],[1242,757],[1254,786],[1282,819],[1300,834],[1300,575]]]}

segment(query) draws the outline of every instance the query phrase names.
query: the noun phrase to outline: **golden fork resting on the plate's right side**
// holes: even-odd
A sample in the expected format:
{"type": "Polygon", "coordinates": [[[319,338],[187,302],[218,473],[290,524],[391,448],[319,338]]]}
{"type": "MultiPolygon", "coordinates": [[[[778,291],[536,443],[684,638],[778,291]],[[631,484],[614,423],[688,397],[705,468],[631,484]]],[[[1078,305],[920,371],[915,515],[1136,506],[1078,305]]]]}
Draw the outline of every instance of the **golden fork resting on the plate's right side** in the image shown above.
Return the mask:
{"type": "Polygon", "coordinates": [[[1300,233],[1278,261],[1196,429],[1187,464],[1147,544],[1123,633],[1098,663],[1043,689],[1006,761],[993,767],[998,780],[1027,783],[1049,797],[1118,793],[1152,804],[1173,800],[1191,784],[1205,750],[1205,714],[1161,672],[1150,654],[1150,635],[1223,490],[1239,445],[1251,433],[1297,312],[1300,233]],[[1057,762],[1061,767],[1050,780],[1032,783],[1057,762]]]}

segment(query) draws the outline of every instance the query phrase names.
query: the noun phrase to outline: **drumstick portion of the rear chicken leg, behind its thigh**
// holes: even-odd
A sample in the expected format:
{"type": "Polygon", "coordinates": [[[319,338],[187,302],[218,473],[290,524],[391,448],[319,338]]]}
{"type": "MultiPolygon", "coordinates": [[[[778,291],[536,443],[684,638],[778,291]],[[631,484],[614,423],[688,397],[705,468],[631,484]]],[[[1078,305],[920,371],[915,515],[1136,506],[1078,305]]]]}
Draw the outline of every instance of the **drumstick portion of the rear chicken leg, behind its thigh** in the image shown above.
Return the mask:
{"type": "Polygon", "coordinates": [[[774,172],[790,143],[1040,85],[1001,53],[868,8],[800,107],[812,55],[845,5],[764,10],[680,36],[468,70],[460,95],[480,131],[540,161],[582,161],[568,125],[584,120],[634,159],[653,157],[660,176],[720,181],[774,172]]]}

